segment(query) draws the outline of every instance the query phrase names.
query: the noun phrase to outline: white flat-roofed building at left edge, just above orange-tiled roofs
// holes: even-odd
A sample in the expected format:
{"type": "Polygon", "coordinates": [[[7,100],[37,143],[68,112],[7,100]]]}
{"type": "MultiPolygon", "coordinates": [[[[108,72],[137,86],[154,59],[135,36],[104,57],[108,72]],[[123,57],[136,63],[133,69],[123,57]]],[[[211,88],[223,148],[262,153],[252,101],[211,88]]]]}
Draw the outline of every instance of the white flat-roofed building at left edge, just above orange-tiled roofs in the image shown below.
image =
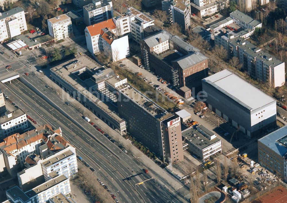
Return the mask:
{"type": "Polygon", "coordinates": [[[0,139],[27,128],[27,117],[21,109],[12,112],[5,111],[5,114],[0,116],[0,139]]]}

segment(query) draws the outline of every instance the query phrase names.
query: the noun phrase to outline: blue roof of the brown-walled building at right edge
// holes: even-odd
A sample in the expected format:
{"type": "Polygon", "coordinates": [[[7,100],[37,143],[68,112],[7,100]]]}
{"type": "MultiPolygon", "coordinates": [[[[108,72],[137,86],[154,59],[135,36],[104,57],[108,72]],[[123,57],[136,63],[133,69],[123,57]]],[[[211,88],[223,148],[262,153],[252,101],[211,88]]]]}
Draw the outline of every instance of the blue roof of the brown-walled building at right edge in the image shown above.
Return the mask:
{"type": "Polygon", "coordinates": [[[275,153],[280,156],[285,156],[287,153],[287,146],[279,142],[278,140],[281,138],[286,139],[287,136],[287,126],[279,128],[278,130],[265,135],[260,138],[258,141],[262,144],[266,145],[269,149],[273,150],[275,153]]]}

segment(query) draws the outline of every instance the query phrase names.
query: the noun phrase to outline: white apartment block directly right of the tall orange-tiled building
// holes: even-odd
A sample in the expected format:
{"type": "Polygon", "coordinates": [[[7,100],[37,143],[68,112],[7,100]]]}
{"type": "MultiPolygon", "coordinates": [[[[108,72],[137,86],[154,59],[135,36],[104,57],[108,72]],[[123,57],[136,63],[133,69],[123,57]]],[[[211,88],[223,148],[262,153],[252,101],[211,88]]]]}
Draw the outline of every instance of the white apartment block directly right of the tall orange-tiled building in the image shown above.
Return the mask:
{"type": "Polygon", "coordinates": [[[127,14],[122,14],[113,18],[113,22],[116,26],[115,34],[117,36],[126,35],[131,32],[129,16],[127,14]]]}

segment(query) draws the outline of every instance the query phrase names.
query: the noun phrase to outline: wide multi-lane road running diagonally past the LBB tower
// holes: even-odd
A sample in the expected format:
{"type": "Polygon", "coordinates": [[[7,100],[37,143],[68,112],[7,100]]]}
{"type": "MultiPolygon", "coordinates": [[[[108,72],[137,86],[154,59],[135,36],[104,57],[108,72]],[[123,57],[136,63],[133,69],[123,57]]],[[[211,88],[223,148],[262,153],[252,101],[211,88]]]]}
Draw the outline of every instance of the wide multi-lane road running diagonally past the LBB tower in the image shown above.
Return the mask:
{"type": "MultiPolygon", "coordinates": [[[[19,102],[18,106],[29,116],[34,117],[34,120],[37,122],[41,124],[48,122],[53,127],[61,127],[63,135],[78,149],[81,148],[79,154],[85,154],[85,156],[90,159],[86,161],[94,167],[96,171],[99,169],[98,166],[101,167],[101,170],[97,173],[97,177],[100,178],[112,192],[120,191],[117,193],[120,202],[186,202],[186,199],[180,197],[179,194],[169,191],[167,187],[160,185],[158,181],[155,182],[154,180],[137,186],[137,191],[135,191],[136,183],[151,178],[148,174],[143,173],[143,167],[140,163],[129,154],[122,152],[118,145],[110,142],[105,136],[92,127],[92,125],[84,121],[75,108],[67,106],[63,100],[50,91],[50,88],[47,89],[45,83],[39,80],[39,78],[33,75],[23,77],[27,77],[26,79],[34,83],[34,86],[37,87],[38,90],[44,92],[49,99],[53,100],[53,102],[71,116],[73,120],[69,120],[40,96],[32,97],[36,95],[36,93],[22,82],[18,83],[18,80],[11,81],[11,84],[6,83],[6,86],[1,84],[0,89],[5,89],[5,94],[8,95],[14,103],[19,102]],[[8,87],[8,89],[6,89],[6,87],[8,87]],[[44,121],[44,119],[46,121],[44,121]],[[75,125],[74,121],[82,125],[86,131],[83,131],[75,125]],[[71,123],[73,124],[71,125],[71,123]],[[93,139],[88,141],[91,138],[93,139]],[[109,150],[96,141],[96,139],[104,143],[109,150]],[[109,159],[108,156],[111,154],[111,159],[109,159]],[[117,158],[116,155],[119,158],[117,158]]],[[[164,182],[164,180],[162,181],[164,182]]]]}

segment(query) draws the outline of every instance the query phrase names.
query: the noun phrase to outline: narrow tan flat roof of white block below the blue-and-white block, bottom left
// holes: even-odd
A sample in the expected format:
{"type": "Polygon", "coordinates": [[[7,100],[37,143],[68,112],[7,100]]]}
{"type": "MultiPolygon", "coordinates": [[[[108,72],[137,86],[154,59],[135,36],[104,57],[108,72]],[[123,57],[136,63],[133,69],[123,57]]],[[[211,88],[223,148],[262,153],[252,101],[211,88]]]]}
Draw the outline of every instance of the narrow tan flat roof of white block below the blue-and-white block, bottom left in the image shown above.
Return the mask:
{"type": "Polygon", "coordinates": [[[65,181],[65,180],[68,180],[64,175],[60,175],[56,178],[53,178],[45,183],[43,183],[42,185],[39,185],[27,192],[25,192],[25,194],[29,197],[29,198],[32,198],[34,197],[35,195],[47,190],[47,189],[50,189],[51,187],[55,186],[55,185],[58,185],[58,184],[61,184],[61,182],[65,181]]]}

